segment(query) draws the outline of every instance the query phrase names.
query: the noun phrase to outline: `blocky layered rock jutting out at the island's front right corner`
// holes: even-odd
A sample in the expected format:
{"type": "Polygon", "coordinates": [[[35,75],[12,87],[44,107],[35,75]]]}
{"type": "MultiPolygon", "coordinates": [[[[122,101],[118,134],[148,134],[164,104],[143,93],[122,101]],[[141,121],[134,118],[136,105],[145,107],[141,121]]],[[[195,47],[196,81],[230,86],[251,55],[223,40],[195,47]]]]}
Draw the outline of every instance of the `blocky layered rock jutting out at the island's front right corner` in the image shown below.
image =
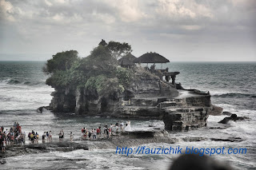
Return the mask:
{"type": "Polygon", "coordinates": [[[212,109],[210,95],[195,94],[194,97],[176,98],[174,102],[174,106],[166,107],[163,117],[166,130],[186,131],[207,125],[212,109]]]}

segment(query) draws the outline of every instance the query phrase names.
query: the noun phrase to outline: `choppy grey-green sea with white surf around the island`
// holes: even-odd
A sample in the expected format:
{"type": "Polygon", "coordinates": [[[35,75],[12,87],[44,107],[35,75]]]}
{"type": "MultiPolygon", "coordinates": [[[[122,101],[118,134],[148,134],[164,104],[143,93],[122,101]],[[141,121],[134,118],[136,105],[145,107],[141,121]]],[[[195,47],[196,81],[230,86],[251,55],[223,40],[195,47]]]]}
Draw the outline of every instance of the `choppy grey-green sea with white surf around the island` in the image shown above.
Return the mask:
{"type": "MultiPolygon", "coordinates": [[[[81,128],[96,128],[98,125],[121,121],[114,118],[85,117],[74,113],[37,113],[36,109],[49,105],[54,91],[45,84],[47,76],[42,73],[44,61],[0,61],[0,126],[10,128],[14,121],[22,130],[52,131],[54,140],[58,132],[73,132],[79,139],[81,128]]],[[[249,121],[230,121],[220,125],[227,116],[210,116],[207,127],[189,132],[170,132],[178,138],[176,144],[145,144],[151,148],[246,148],[246,154],[214,155],[217,160],[226,161],[235,169],[256,168],[256,62],[171,62],[164,65],[170,71],[178,71],[176,82],[186,89],[210,91],[212,104],[238,117],[249,117],[249,121]],[[242,138],[240,142],[202,140],[188,142],[184,137],[242,138]]],[[[126,121],[126,120],[122,120],[126,121]]],[[[149,125],[163,128],[162,121],[131,121],[134,130],[150,129],[149,125]]],[[[134,146],[136,147],[136,146],[134,146]]],[[[1,169],[10,168],[90,168],[90,169],[167,169],[178,155],[133,155],[115,154],[115,149],[75,150],[72,152],[48,152],[6,158],[1,169]],[[85,158],[82,161],[57,161],[56,158],[85,158]]]]}

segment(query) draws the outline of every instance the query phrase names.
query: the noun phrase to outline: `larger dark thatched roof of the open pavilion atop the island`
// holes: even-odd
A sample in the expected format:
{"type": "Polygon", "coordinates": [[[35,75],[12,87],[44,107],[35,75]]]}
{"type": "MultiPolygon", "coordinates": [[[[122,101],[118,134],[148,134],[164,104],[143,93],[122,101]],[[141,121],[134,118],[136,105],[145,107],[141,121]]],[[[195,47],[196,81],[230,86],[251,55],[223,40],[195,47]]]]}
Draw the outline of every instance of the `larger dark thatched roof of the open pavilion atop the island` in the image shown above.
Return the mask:
{"type": "Polygon", "coordinates": [[[170,62],[166,57],[159,53],[144,53],[141,57],[134,60],[135,63],[166,63],[170,62]]]}

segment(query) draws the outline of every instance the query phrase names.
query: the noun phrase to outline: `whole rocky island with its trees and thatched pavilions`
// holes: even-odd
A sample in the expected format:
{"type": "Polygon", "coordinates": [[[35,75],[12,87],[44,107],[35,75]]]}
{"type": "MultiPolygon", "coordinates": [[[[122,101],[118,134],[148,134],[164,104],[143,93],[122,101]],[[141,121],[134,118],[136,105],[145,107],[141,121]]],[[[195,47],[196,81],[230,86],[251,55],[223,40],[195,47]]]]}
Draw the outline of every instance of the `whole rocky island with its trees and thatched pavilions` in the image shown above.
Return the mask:
{"type": "Polygon", "coordinates": [[[178,71],[156,69],[167,63],[158,53],[134,57],[127,43],[99,43],[88,57],[74,50],[47,61],[46,84],[55,91],[49,109],[54,113],[162,120],[166,130],[184,131],[206,126],[213,109],[210,93],[183,89],[178,71]],[[118,59],[119,58],[119,59],[118,59]],[[151,63],[150,68],[142,63],[151,63]]]}

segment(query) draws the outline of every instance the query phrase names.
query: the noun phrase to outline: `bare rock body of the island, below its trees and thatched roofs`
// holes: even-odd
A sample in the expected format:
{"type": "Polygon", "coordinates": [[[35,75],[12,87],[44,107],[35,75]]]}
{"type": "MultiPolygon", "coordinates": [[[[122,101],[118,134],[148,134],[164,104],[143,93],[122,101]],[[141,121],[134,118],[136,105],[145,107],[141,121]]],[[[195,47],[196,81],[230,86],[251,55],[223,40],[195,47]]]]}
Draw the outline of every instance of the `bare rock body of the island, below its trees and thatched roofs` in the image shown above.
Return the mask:
{"type": "Polygon", "coordinates": [[[211,105],[210,93],[184,89],[181,84],[163,81],[160,71],[150,73],[138,67],[134,68],[134,81],[123,93],[101,96],[96,89],[66,87],[51,95],[53,112],[163,120],[170,131],[206,126],[210,110],[222,112],[211,105]]]}

